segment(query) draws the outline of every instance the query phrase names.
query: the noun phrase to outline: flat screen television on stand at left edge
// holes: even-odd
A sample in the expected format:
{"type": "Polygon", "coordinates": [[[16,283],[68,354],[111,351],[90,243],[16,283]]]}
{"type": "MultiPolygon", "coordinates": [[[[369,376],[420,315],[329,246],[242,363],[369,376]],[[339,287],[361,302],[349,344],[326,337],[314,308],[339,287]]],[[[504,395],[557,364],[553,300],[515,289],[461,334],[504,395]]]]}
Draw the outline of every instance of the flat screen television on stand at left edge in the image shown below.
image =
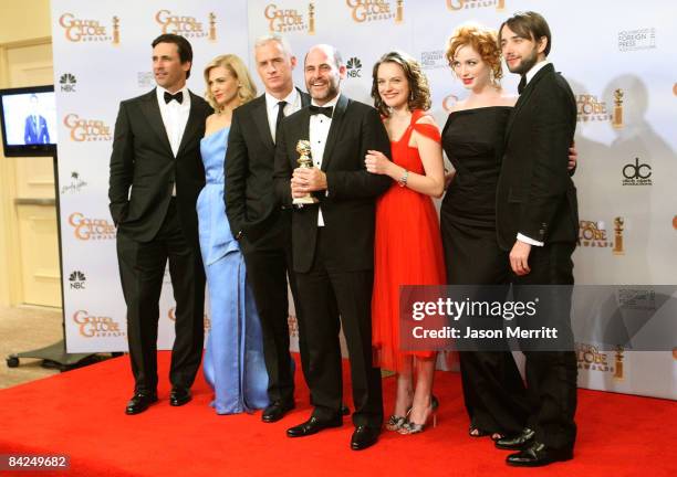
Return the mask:
{"type": "Polygon", "coordinates": [[[56,153],[54,86],[0,89],[0,119],[6,157],[56,153]]]}

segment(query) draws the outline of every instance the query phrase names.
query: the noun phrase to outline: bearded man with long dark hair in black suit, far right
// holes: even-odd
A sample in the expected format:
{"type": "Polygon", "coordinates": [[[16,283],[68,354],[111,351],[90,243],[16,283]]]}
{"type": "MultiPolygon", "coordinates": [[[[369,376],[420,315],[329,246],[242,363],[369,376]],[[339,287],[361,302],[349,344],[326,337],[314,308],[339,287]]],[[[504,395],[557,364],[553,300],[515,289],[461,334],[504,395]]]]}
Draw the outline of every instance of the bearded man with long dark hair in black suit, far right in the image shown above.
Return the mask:
{"type": "Polygon", "coordinates": [[[560,285],[548,295],[552,303],[543,304],[549,315],[541,317],[556,326],[564,350],[524,351],[531,415],[521,434],[499,439],[497,447],[520,451],[508,456],[510,465],[540,466],[572,458],[576,435],[570,286],[579,214],[567,171],[576,103],[566,81],[546,60],[551,34],[543,17],[513,15],[501,25],[499,41],[509,70],[522,81],[506,131],[497,191],[498,241],[510,251],[517,299],[529,293],[530,285],[560,285]]]}

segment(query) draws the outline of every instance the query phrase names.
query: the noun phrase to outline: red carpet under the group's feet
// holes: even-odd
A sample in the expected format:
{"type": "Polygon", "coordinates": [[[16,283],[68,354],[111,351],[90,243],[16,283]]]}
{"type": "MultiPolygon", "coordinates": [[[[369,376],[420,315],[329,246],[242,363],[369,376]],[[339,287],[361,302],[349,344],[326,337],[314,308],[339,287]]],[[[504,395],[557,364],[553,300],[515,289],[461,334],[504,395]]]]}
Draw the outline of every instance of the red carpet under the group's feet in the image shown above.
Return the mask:
{"type": "MultiPolygon", "coordinates": [[[[488,437],[467,435],[456,373],[437,374],[436,428],[414,436],[384,432],[376,446],[352,452],[347,420],[315,436],[285,436],[285,428],[310,411],[300,373],[296,410],[281,422],[263,424],[260,412],[216,415],[201,375],[192,402],[170,407],[168,358],[164,352],[159,360],[160,402],[136,416],[124,414],[132,391],[126,357],[0,391],[0,454],[65,454],[71,469],[53,475],[87,477],[677,475],[677,403],[671,401],[581,390],[574,460],[513,469],[503,464],[507,453],[496,451],[488,437]]],[[[386,412],[393,388],[393,378],[386,379],[386,412]]]]}

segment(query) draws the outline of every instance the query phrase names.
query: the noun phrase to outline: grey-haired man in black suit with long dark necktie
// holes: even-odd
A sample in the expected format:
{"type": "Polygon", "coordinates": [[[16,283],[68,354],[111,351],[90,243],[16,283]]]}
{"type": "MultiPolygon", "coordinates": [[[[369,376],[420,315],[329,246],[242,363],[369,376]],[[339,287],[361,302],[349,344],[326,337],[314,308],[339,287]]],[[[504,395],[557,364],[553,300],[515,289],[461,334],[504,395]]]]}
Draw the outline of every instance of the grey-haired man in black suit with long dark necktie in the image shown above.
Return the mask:
{"type": "Polygon", "coordinates": [[[272,423],[294,407],[288,274],[304,373],[308,365],[303,312],[291,266],[291,210],[282,210],[273,191],[275,132],[283,117],[310,104],[310,96],[294,87],[292,70],[296,57],[282,36],[260,38],[254,44],[254,60],[265,93],[233,112],[226,152],[225,200],[261,319],[270,399],[261,418],[272,423]]]}

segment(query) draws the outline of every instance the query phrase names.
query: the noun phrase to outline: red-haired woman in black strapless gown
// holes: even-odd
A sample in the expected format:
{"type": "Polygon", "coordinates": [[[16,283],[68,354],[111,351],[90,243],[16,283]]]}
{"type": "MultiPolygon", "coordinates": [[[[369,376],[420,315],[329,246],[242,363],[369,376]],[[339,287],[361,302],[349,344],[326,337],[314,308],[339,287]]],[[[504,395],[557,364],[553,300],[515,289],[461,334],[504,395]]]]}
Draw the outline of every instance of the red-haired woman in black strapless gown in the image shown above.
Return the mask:
{"type": "MultiPolygon", "coordinates": [[[[496,236],[496,188],[506,126],[517,97],[506,95],[500,86],[501,52],[494,31],[460,26],[449,39],[446,55],[469,91],[467,99],[454,106],[441,135],[456,170],[440,210],[447,282],[506,285],[507,290],[510,262],[496,236]]],[[[528,406],[512,353],[507,349],[461,351],[459,359],[469,434],[491,435],[494,441],[518,434],[528,406]]]]}

